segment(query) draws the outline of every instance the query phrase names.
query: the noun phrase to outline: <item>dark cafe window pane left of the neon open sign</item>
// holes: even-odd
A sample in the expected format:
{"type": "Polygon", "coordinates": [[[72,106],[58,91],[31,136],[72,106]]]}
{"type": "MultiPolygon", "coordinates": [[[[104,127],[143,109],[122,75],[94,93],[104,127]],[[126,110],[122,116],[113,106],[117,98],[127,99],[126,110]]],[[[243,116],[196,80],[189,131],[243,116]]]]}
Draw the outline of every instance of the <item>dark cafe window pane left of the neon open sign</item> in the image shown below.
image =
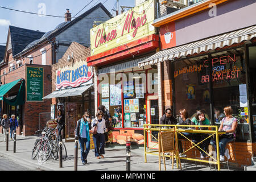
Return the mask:
{"type": "Polygon", "coordinates": [[[204,110],[210,120],[210,68],[205,67],[208,55],[174,62],[174,117],[180,109],[188,111],[189,118],[195,117],[197,110],[204,110]]]}

